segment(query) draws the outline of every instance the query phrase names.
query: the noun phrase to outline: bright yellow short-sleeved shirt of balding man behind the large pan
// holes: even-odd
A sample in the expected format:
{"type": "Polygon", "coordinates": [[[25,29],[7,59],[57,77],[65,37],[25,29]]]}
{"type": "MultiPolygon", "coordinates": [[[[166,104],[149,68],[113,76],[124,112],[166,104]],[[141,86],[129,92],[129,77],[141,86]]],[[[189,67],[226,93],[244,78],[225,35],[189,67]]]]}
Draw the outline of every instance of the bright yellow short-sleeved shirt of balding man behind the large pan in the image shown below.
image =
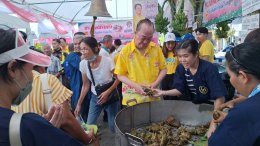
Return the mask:
{"type": "MultiPolygon", "coordinates": [[[[115,74],[124,75],[138,84],[150,85],[156,81],[160,71],[165,68],[165,59],[162,49],[159,46],[151,42],[146,48],[145,53],[141,54],[135,47],[133,40],[120,51],[116,62],[115,74]]],[[[160,100],[160,98],[142,96],[136,93],[132,87],[124,83],[122,94],[123,105],[127,105],[127,102],[133,100],[136,100],[137,103],[160,100]]],[[[131,106],[135,104],[135,102],[131,102],[128,105],[131,106]]]]}

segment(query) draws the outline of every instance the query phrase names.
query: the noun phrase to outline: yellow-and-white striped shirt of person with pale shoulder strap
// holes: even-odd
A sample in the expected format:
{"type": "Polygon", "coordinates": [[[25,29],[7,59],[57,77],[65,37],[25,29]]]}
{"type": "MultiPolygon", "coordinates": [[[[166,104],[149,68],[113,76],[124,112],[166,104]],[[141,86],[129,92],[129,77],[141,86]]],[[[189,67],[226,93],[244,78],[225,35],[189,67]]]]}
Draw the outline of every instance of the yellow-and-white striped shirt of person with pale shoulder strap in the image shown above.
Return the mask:
{"type": "MultiPolygon", "coordinates": [[[[67,89],[55,76],[48,74],[48,84],[51,88],[52,102],[62,104],[66,100],[70,100],[72,91],[67,89]]],[[[33,83],[31,93],[18,106],[12,106],[12,110],[17,113],[33,112],[39,115],[47,113],[47,106],[42,91],[42,83],[40,74],[33,71],[33,83]]]]}

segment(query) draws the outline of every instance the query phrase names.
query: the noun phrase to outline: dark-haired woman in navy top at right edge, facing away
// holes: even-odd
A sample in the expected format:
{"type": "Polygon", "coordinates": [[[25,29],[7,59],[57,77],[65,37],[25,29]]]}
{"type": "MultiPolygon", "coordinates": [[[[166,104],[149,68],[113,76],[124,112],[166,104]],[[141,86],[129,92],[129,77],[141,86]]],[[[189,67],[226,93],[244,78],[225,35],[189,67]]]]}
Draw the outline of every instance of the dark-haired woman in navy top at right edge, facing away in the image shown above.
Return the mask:
{"type": "Polygon", "coordinates": [[[240,44],[225,57],[231,84],[247,99],[229,110],[210,137],[209,146],[259,146],[260,44],[240,44]]]}

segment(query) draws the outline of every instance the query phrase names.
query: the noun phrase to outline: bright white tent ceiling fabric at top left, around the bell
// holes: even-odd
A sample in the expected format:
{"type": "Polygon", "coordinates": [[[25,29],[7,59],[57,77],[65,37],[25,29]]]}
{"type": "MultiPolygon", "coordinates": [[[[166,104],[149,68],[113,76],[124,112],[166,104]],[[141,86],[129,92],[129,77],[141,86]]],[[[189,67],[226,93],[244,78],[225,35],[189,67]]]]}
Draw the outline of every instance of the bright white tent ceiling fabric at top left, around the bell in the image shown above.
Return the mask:
{"type": "MultiPolygon", "coordinates": [[[[35,13],[46,13],[57,20],[69,23],[91,22],[92,17],[84,16],[88,11],[90,0],[9,0],[17,7],[34,11],[35,13]]],[[[101,20],[131,19],[133,16],[132,0],[106,0],[108,12],[112,18],[98,18],[101,20]]],[[[9,12],[0,2],[0,11],[9,12]]]]}

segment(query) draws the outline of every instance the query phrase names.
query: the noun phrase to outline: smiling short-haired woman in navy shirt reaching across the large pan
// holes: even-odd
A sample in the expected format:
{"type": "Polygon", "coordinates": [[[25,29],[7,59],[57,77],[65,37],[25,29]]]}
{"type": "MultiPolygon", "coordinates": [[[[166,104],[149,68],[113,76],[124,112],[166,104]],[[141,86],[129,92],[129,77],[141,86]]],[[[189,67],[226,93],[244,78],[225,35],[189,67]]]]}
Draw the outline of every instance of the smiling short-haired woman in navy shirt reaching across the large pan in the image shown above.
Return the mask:
{"type": "MultiPolygon", "coordinates": [[[[213,104],[211,100],[214,100],[214,110],[219,109],[224,103],[227,91],[217,67],[199,58],[198,42],[195,39],[188,39],[176,48],[176,53],[181,64],[178,65],[174,75],[175,89],[156,90],[157,96],[181,96],[196,104],[213,104]]],[[[216,125],[211,121],[208,137],[216,125]]]]}

